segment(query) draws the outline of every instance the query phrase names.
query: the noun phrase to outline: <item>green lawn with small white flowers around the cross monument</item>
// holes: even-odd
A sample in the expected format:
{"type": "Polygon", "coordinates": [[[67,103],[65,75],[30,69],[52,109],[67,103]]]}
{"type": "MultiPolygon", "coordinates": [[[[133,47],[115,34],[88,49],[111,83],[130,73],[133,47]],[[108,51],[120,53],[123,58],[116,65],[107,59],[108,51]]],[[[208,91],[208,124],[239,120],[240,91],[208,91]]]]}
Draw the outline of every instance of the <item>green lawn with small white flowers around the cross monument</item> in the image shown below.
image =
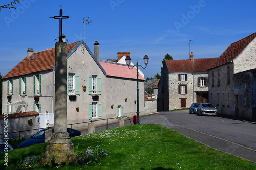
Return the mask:
{"type": "MultiPolygon", "coordinates": [[[[256,164],[208,148],[160,125],[132,125],[72,138],[78,151],[101,147],[110,151],[94,166],[60,169],[256,169],[256,164]]],[[[8,152],[8,164],[20,155],[40,155],[46,143],[8,152]]],[[[3,158],[4,153],[0,154],[3,158]]],[[[5,167],[1,159],[0,168],[5,167]]]]}

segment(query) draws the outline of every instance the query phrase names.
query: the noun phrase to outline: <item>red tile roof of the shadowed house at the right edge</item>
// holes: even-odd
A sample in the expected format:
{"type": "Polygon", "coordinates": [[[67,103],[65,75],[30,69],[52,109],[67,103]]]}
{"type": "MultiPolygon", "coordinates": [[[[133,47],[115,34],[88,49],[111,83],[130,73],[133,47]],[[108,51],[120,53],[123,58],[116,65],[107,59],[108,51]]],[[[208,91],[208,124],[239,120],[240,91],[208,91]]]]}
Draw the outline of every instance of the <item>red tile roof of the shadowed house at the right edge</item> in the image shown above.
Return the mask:
{"type": "Polygon", "coordinates": [[[215,61],[214,64],[211,65],[212,69],[218,67],[220,65],[231,62],[234,58],[236,58],[244,48],[256,37],[256,33],[253,33],[237,42],[232,43],[224,53],[215,61]]]}

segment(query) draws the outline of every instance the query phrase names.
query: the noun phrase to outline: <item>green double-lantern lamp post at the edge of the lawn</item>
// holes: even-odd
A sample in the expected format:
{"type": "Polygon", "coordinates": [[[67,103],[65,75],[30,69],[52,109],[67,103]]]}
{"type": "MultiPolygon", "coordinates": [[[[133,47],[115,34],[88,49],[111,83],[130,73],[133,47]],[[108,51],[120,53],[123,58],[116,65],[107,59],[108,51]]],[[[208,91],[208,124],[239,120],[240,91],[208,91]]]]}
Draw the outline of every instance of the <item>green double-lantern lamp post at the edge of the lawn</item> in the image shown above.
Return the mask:
{"type": "MultiPolygon", "coordinates": [[[[144,59],[145,65],[147,65],[147,63],[148,63],[147,55],[145,55],[145,57],[143,59],[144,59]]],[[[128,68],[129,69],[133,69],[133,67],[135,65],[132,68],[129,67],[130,64],[131,64],[131,58],[130,57],[126,57],[125,61],[126,61],[126,64],[128,65],[128,68]]],[[[137,60],[137,64],[136,64],[136,68],[137,68],[137,112],[136,112],[137,113],[137,122],[136,122],[136,124],[140,124],[140,110],[139,110],[139,66],[141,66],[141,68],[143,68],[142,65],[138,64],[138,60],[137,60]]],[[[145,68],[143,68],[143,69],[145,69],[145,68]]]]}

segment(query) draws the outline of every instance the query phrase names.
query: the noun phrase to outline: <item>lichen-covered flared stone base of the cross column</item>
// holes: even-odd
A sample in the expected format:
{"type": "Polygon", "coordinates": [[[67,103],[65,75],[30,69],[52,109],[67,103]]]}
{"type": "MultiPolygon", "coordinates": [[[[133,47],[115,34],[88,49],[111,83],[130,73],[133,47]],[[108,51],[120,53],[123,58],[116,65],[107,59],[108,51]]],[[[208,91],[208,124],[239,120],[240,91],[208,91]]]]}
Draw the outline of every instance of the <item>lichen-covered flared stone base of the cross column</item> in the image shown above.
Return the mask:
{"type": "Polygon", "coordinates": [[[61,164],[61,162],[66,162],[68,164],[77,161],[76,154],[74,153],[74,144],[71,142],[68,132],[53,133],[51,140],[49,140],[46,145],[42,163],[51,164],[53,156],[58,164],[61,164]]]}

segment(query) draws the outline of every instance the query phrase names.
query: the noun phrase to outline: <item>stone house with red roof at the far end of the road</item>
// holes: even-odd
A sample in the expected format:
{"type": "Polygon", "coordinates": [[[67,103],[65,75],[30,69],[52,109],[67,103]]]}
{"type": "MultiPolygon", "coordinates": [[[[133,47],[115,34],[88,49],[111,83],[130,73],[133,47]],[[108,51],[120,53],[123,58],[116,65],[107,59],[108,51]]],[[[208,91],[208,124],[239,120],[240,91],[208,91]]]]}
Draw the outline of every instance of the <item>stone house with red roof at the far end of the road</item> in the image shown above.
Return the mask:
{"type": "Polygon", "coordinates": [[[165,60],[158,83],[157,110],[189,108],[192,103],[208,102],[207,68],[217,58],[165,60]]]}

